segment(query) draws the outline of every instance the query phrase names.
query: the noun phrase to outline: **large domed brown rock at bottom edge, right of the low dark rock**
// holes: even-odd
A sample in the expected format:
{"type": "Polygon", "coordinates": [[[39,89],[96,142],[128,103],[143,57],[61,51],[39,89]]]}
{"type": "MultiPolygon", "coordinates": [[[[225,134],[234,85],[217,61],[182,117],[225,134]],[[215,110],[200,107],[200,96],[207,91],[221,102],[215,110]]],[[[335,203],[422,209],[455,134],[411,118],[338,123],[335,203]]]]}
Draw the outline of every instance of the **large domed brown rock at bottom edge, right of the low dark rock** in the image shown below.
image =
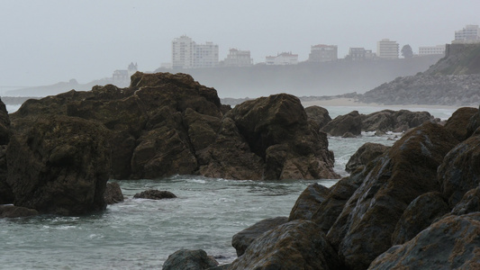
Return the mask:
{"type": "Polygon", "coordinates": [[[335,250],[318,226],[293,220],[257,238],[231,264],[237,269],[339,269],[335,250]]]}

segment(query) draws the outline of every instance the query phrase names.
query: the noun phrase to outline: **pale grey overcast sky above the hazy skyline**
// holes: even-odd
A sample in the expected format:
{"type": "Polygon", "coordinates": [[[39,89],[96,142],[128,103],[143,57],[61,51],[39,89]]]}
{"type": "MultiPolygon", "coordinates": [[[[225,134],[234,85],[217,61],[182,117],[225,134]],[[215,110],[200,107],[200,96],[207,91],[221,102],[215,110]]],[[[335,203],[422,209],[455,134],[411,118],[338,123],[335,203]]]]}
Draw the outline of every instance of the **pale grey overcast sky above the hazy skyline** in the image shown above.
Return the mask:
{"type": "MultiPolygon", "coordinates": [[[[0,0],[0,86],[79,83],[112,76],[137,62],[153,71],[171,61],[183,34],[213,41],[220,59],[249,49],[254,62],[311,45],[376,51],[376,41],[402,47],[449,43],[466,24],[480,24],[478,0],[0,0]]],[[[0,91],[5,90],[0,89],[0,91]]],[[[7,89],[8,90],[8,89],[7,89]]]]}

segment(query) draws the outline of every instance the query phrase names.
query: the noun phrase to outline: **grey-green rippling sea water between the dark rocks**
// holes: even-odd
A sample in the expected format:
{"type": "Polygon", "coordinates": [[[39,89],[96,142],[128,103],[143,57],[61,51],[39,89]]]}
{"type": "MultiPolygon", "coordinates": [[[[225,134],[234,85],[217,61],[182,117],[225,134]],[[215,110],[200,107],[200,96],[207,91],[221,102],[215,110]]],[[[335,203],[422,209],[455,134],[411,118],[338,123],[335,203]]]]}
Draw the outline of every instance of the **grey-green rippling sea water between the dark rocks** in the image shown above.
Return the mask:
{"type": "MultiPolygon", "coordinates": [[[[352,107],[329,107],[332,117],[352,107]]],[[[355,108],[358,110],[358,108],[355,108]]],[[[366,110],[377,108],[364,107],[366,110]]],[[[360,110],[358,110],[360,111],[360,110]]],[[[442,109],[448,118],[453,112],[442,109]],[[449,114],[448,114],[449,113],[449,114]]],[[[439,114],[439,112],[437,114],[439,114]]],[[[364,143],[392,145],[402,134],[377,137],[364,132],[353,139],[329,138],[335,170],[364,143]]],[[[204,249],[222,263],[236,257],[231,237],[255,222],[288,216],[299,194],[309,184],[327,187],[338,179],[238,181],[175,175],[156,180],[122,180],[125,202],[85,216],[41,215],[0,220],[1,269],[158,269],[180,248],[204,249]],[[168,190],[176,199],[132,199],[148,189],[168,190]]]]}

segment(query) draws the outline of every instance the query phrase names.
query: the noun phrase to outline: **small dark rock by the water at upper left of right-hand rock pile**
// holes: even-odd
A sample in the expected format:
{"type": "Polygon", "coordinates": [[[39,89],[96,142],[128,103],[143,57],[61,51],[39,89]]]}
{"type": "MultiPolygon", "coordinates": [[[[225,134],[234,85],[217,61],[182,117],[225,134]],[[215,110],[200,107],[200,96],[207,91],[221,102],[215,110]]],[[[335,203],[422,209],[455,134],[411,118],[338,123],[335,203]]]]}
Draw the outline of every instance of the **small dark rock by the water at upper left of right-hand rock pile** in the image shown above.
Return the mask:
{"type": "Polygon", "coordinates": [[[355,171],[359,167],[366,166],[368,162],[381,156],[389,147],[373,142],[367,142],[358,148],[357,152],[349,158],[349,162],[345,166],[345,170],[349,173],[355,171]]]}

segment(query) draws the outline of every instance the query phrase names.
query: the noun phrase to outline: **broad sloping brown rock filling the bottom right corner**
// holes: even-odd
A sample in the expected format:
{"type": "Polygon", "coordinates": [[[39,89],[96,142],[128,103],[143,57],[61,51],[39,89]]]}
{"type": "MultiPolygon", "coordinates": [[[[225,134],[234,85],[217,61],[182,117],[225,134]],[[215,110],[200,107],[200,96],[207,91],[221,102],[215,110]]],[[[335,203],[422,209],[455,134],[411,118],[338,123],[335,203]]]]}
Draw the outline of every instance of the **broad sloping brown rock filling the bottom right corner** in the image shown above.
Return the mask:
{"type": "Polygon", "coordinates": [[[479,246],[480,213],[449,216],[391,247],[368,269],[479,269],[479,246]]]}

